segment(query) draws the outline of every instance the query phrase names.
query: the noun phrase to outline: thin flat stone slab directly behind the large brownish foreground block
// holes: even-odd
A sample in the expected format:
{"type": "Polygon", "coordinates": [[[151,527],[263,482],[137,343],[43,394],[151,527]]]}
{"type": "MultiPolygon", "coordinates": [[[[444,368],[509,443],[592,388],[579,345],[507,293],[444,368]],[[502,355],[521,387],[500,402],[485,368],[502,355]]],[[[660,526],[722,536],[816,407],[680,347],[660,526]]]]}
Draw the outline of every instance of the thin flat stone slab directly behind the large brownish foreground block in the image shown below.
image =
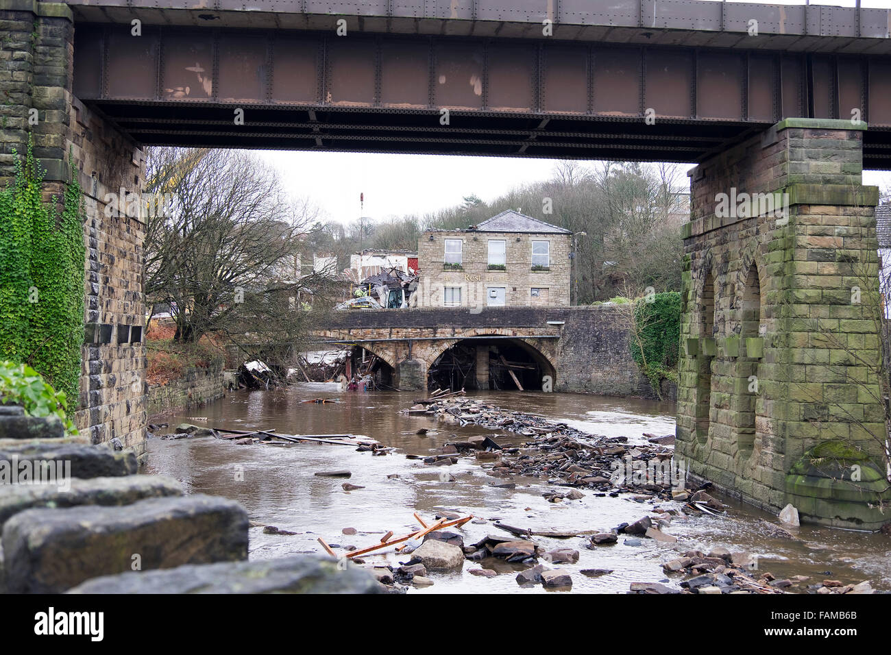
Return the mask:
{"type": "Polygon", "coordinates": [[[0,534],[4,523],[12,516],[39,507],[59,509],[79,505],[128,505],[146,498],[183,495],[183,487],[177,480],[156,475],[73,478],[61,482],[0,485],[0,534]]]}

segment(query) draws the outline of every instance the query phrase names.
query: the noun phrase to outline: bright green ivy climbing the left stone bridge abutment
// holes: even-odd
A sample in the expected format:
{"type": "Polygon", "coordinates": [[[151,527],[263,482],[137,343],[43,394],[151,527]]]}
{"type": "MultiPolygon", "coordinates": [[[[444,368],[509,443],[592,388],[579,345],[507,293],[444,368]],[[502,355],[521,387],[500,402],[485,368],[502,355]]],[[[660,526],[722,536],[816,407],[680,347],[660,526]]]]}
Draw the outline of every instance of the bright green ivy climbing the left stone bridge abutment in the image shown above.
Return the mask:
{"type": "MultiPolygon", "coordinates": [[[[77,171],[45,202],[31,144],[0,190],[0,359],[29,364],[68,398],[78,397],[84,336],[83,194],[77,171]]],[[[69,402],[69,412],[77,402],[69,402]]]]}

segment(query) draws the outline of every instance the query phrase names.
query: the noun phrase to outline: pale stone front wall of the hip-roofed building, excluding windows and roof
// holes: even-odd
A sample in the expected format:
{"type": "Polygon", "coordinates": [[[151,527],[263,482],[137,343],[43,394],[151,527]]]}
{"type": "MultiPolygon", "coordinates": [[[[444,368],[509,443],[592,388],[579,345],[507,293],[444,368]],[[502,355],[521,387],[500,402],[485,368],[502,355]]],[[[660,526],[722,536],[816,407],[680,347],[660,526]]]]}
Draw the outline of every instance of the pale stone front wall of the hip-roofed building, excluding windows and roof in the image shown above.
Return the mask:
{"type": "Polygon", "coordinates": [[[461,287],[462,306],[486,305],[486,287],[505,288],[507,307],[569,304],[568,234],[492,233],[458,230],[429,232],[418,240],[421,269],[419,307],[443,307],[443,287],[461,287]],[[430,240],[432,237],[432,241],[430,240]],[[445,270],[446,239],[461,239],[462,270],[445,270]],[[488,270],[488,242],[505,242],[505,270],[488,270]],[[532,269],[532,242],[550,242],[549,270],[532,269]],[[540,291],[537,297],[532,289],[540,291]]]}

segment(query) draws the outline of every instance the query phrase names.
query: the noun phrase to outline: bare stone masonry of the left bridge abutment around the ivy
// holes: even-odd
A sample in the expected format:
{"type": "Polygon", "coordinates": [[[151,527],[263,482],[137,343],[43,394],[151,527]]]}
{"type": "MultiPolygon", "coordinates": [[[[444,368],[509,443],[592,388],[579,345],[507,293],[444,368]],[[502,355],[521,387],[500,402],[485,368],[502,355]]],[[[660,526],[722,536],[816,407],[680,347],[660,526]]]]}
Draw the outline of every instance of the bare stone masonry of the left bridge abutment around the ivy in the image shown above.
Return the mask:
{"type": "Polygon", "coordinates": [[[0,0],[0,33],[0,183],[11,178],[31,135],[46,171],[45,197],[61,195],[70,177],[69,156],[85,195],[86,334],[78,429],[93,443],[119,438],[142,458],[144,228],[138,219],[105,211],[106,194],[141,191],[142,152],[71,94],[74,24],[67,5],[0,0]],[[36,124],[29,122],[32,117],[36,124]]]}

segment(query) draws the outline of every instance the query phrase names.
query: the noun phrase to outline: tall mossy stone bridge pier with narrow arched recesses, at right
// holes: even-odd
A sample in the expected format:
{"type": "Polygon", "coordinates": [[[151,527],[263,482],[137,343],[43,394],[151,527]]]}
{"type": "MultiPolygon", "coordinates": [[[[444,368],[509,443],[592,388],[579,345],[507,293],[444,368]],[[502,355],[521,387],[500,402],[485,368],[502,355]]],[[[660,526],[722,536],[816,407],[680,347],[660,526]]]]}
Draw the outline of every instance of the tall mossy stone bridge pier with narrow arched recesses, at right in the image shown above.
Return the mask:
{"type": "Polygon", "coordinates": [[[891,496],[865,129],[786,119],[691,171],[676,451],[748,503],[875,529],[891,496]]]}

